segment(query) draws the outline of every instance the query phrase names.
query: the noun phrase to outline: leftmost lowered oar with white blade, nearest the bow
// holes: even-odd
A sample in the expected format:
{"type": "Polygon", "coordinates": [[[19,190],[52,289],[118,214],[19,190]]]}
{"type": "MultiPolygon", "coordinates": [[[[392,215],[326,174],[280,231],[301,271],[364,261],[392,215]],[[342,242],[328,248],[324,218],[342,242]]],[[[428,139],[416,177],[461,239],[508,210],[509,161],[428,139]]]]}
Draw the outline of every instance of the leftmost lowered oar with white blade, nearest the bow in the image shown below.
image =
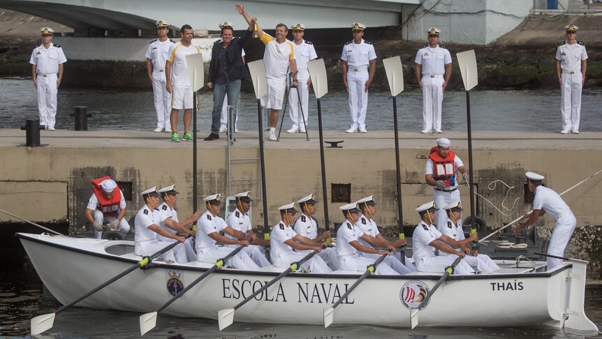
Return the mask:
{"type": "Polygon", "coordinates": [[[152,254],[152,256],[142,258],[142,260],[138,261],[135,265],[126,269],[126,271],[123,271],[122,273],[119,273],[115,277],[112,277],[110,280],[104,282],[103,284],[99,285],[95,289],[89,291],[87,294],[84,294],[83,296],[80,296],[79,298],[75,299],[74,301],[71,301],[71,303],[64,305],[63,307],[59,308],[58,310],[56,310],[52,313],[48,313],[46,315],[38,315],[38,317],[31,319],[31,335],[33,336],[36,334],[40,334],[43,331],[46,331],[47,329],[52,328],[52,324],[54,323],[54,317],[56,317],[60,312],[63,312],[67,308],[70,308],[71,306],[75,305],[76,303],[79,303],[80,301],[91,296],[92,294],[95,294],[97,291],[100,291],[101,289],[107,287],[108,285],[112,284],[113,282],[116,282],[117,280],[121,279],[128,273],[135,271],[137,268],[141,268],[142,266],[146,266],[146,265],[150,264],[153,261],[153,259],[161,256],[161,254],[163,254],[165,252],[168,252],[169,250],[171,250],[173,247],[175,247],[178,244],[179,244],[179,241],[175,241],[174,243],[170,244],[169,246],[163,248],[163,250],[160,250],[159,252],[152,254]]]}

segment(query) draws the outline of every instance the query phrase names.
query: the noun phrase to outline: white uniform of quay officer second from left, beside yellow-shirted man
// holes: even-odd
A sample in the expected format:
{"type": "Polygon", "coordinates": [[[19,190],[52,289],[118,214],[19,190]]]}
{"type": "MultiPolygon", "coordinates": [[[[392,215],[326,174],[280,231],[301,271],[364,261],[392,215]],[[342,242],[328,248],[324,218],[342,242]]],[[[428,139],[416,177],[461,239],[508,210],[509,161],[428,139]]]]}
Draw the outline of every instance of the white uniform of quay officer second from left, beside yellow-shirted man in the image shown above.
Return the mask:
{"type": "Polygon", "coordinates": [[[171,114],[171,100],[166,89],[165,62],[169,59],[169,49],[174,41],[167,39],[151,41],[146,53],[147,59],[152,62],[152,92],[156,112],[156,127],[160,129],[171,128],[169,117],[171,114]]]}

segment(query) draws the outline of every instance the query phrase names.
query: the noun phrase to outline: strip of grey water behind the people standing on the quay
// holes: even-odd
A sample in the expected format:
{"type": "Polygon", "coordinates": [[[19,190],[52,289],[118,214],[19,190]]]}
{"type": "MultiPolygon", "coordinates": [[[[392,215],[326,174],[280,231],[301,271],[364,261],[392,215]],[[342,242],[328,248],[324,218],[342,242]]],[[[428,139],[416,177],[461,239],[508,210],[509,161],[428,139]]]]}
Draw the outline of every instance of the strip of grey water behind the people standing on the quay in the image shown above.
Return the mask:
{"type": "MultiPolygon", "coordinates": [[[[36,90],[31,79],[0,79],[0,128],[19,128],[24,119],[38,117],[36,90]]],[[[212,93],[200,94],[198,126],[209,131],[212,93]]],[[[347,129],[349,113],[347,94],[335,90],[322,102],[325,129],[347,129]]],[[[585,89],[582,95],[581,131],[602,130],[602,89],[585,89]]],[[[314,94],[309,100],[309,129],[317,129],[314,94]]],[[[144,129],[156,127],[152,89],[80,89],[61,88],[58,94],[58,129],[73,129],[75,106],[87,106],[89,129],[144,129]]],[[[558,90],[478,90],[471,91],[473,131],[560,131],[560,92],[558,90]]],[[[240,96],[240,130],[257,128],[257,104],[252,93],[240,96]]],[[[399,128],[422,129],[422,94],[417,88],[406,88],[397,96],[399,128]]],[[[182,114],[182,113],[180,113],[182,114]]],[[[288,113],[284,129],[290,128],[288,113]]],[[[443,101],[443,130],[465,131],[466,94],[449,90],[443,101]]],[[[182,118],[180,117],[180,124],[182,118]]],[[[368,100],[367,129],[392,128],[390,93],[371,90],[368,100]]]]}

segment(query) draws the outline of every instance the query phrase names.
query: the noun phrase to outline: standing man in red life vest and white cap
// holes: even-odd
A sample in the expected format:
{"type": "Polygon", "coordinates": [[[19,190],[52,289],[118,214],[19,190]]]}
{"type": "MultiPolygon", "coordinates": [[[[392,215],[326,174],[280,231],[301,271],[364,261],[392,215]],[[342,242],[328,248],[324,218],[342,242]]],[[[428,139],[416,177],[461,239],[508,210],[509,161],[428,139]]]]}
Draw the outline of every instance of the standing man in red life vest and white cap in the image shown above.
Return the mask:
{"type": "MultiPolygon", "coordinates": [[[[456,172],[462,173],[465,182],[468,180],[468,168],[450,150],[451,141],[448,138],[437,139],[437,146],[432,147],[425,168],[425,180],[433,187],[433,201],[436,206],[446,206],[453,201],[460,201],[460,191],[457,189],[456,172]]],[[[437,210],[436,227],[439,232],[447,226],[445,210],[437,210]]]]}

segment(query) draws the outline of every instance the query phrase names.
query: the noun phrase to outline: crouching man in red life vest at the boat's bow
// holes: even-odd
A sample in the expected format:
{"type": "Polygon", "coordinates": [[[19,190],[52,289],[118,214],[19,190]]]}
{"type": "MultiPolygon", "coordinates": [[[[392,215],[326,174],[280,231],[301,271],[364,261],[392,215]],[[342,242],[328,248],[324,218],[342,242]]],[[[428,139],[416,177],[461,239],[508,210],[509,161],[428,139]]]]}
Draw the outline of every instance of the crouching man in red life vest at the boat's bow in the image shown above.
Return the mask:
{"type": "Polygon", "coordinates": [[[94,194],[88,201],[84,217],[94,226],[94,236],[102,238],[103,224],[108,224],[108,229],[128,233],[130,225],[124,218],[126,200],[124,192],[117,187],[117,182],[110,177],[103,177],[92,180],[91,184],[94,194]]]}

